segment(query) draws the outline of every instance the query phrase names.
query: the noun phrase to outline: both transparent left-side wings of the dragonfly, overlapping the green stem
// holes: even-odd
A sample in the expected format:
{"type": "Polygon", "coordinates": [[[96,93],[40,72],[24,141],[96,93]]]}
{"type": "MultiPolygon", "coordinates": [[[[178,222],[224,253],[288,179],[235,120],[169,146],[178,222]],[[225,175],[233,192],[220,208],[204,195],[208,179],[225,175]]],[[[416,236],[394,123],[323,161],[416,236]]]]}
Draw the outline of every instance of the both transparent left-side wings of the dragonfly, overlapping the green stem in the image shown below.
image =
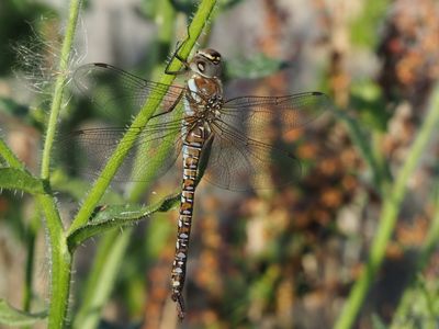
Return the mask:
{"type": "Polygon", "coordinates": [[[126,154],[114,177],[116,181],[148,182],[168,171],[181,149],[178,104],[184,88],[148,81],[99,63],[79,67],[72,79],[91,103],[115,118],[117,125],[122,123],[122,127],[82,129],[60,136],[56,148],[69,171],[97,177],[113,154],[121,157],[126,154]],[[123,125],[151,98],[160,101],[156,112],[161,115],[153,117],[144,128],[131,128],[133,137],[120,144],[127,129],[123,125]]]}

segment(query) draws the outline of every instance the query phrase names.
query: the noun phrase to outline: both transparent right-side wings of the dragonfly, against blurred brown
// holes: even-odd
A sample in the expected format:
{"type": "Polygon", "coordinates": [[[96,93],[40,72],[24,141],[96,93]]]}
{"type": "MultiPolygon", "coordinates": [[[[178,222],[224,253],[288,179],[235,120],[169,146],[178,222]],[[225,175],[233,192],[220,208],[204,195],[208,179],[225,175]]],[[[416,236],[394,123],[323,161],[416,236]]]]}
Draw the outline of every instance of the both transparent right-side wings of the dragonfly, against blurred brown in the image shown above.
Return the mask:
{"type": "Polygon", "coordinates": [[[205,178],[224,189],[269,189],[296,181],[301,163],[291,151],[264,137],[263,124],[279,122],[283,131],[306,125],[330,107],[319,92],[286,97],[243,97],[229,100],[212,124],[214,141],[205,178]]]}

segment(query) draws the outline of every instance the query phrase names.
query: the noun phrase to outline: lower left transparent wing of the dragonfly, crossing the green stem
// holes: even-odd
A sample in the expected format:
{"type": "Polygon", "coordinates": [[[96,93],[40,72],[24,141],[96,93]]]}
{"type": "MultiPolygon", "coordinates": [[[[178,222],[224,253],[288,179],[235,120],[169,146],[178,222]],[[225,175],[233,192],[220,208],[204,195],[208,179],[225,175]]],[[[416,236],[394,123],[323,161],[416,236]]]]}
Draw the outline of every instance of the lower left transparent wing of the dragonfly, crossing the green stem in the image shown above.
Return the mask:
{"type": "Polygon", "coordinates": [[[106,177],[109,180],[153,182],[172,167],[180,154],[178,112],[156,116],[144,128],[131,127],[136,134],[130,138],[122,139],[127,131],[123,127],[81,129],[61,136],[56,144],[58,157],[71,173],[98,177],[113,154],[123,156],[123,166],[114,178],[106,177]]]}

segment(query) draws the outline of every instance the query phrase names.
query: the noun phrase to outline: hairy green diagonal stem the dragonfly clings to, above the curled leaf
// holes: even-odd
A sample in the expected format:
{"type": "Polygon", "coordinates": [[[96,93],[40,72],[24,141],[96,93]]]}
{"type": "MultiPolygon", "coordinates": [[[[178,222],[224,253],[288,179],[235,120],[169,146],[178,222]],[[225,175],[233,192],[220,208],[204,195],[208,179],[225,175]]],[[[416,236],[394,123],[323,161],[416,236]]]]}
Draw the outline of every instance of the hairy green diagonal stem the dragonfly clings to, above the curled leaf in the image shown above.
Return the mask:
{"type": "MultiPolygon", "coordinates": [[[[204,0],[201,2],[192,20],[192,23],[189,26],[190,36],[185,39],[184,44],[182,45],[179,52],[179,55],[183,59],[188,58],[188,56],[190,55],[198,37],[200,36],[204,27],[205,22],[209,20],[210,14],[214,10],[215,4],[216,1],[214,0],[204,0]]],[[[169,65],[169,70],[178,71],[181,69],[181,67],[182,64],[177,58],[172,58],[172,61],[169,65]]],[[[164,84],[170,84],[172,83],[173,79],[175,76],[165,75],[159,82],[164,84]]],[[[131,127],[136,127],[136,128],[127,129],[126,134],[124,135],[119,146],[114,150],[112,157],[106,162],[104,169],[102,170],[101,175],[98,178],[94,185],[87,195],[81,208],[79,209],[77,216],[74,219],[74,223],[70,226],[69,231],[77,229],[78,227],[85,225],[88,222],[94,207],[98,205],[102,195],[105,193],[105,190],[110,184],[110,179],[114,177],[115,172],[122,164],[131,147],[134,145],[135,139],[138,137],[139,132],[142,131],[143,127],[146,126],[146,124],[148,123],[149,118],[151,117],[156,109],[160,105],[161,99],[164,98],[165,93],[166,93],[165,90],[155,91],[154,94],[151,94],[148,98],[145,105],[143,106],[138,115],[134,118],[131,125],[131,127]]]]}

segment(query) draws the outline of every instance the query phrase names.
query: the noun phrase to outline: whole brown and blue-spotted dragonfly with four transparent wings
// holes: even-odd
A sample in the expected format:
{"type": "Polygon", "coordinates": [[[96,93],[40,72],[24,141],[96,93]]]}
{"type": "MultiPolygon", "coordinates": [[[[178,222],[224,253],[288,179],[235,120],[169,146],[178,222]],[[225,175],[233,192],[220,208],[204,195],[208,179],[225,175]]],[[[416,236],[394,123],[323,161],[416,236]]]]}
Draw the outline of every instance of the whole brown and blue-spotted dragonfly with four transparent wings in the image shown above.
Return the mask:
{"type": "MultiPolygon", "coordinates": [[[[171,298],[176,302],[179,318],[183,319],[185,307],[182,293],[194,196],[202,174],[201,164],[207,163],[203,168],[203,180],[233,191],[275,188],[296,181],[301,175],[300,160],[292,151],[270,141],[260,127],[275,118],[289,132],[315,120],[330,105],[328,97],[318,91],[226,99],[221,79],[223,60],[218,52],[205,48],[198,50],[189,61],[177,58],[183,68],[177,72],[167,69],[166,72],[185,75],[185,82],[181,86],[145,80],[101,63],[79,67],[74,75],[74,81],[101,107],[117,106],[120,100],[114,92],[103,92],[99,88],[103,80],[114,87],[113,91],[128,94],[130,106],[134,109],[139,109],[146,100],[155,98],[155,94],[160,95],[157,97],[159,106],[156,114],[146,126],[138,127],[135,143],[126,146],[132,148],[134,144],[133,149],[144,152],[144,159],[147,159],[134,164],[128,180],[156,180],[168,172],[182,154],[181,200],[171,270],[171,298]],[[144,178],[145,168],[157,158],[161,163],[155,175],[144,178]],[[275,179],[277,172],[272,169],[277,163],[286,166],[286,178],[275,179]]],[[[119,144],[126,129],[81,129],[72,136],[72,141],[86,149],[93,145],[92,156],[98,162],[102,162],[114,149],[124,149],[124,145],[119,144]]],[[[134,154],[131,151],[127,159],[134,159],[134,154]]]]}

